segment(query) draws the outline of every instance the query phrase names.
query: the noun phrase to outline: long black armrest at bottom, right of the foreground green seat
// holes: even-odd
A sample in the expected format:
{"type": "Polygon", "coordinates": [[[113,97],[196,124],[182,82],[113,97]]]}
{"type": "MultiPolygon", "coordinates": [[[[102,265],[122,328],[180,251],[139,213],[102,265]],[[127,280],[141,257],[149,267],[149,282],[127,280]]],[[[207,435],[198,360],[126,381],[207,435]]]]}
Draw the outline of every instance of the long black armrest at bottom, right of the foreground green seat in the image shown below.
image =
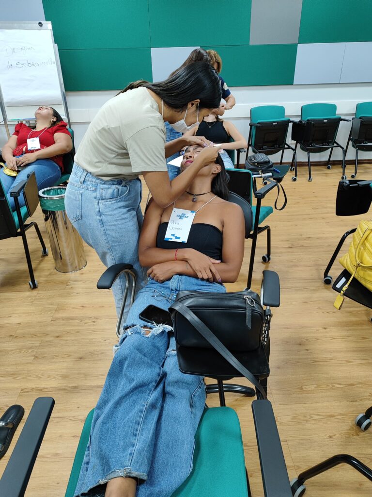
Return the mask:
{"type": "Polygon", "coordinates": [[[283,450],[271,403],[252,402],[257,448],[265,497],[292,497],[283,450]]]}

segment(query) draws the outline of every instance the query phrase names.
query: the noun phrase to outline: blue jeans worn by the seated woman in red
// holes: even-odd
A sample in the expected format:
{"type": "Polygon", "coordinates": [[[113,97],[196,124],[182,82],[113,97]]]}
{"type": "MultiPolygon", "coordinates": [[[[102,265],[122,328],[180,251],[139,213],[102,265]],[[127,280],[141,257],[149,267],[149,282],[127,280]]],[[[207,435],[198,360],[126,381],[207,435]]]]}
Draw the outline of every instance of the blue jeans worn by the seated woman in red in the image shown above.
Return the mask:
{"type": "MultiPolygon", "coordinates": [[[[22,157],[22,156],[18,156],[22,157]]],[[[6,164],[5,164],[6,166],[6,164]]],[[[8,176],[4,173],[3,168],[0,170],[0,179],[2,186],[4,188],[4,193],[6,193],[10,209],[15,211],[14,198],[8,194],[8,191],[17,184],[21,183],[27,179],[31,172],[35,172],[36,183],[38,189],[47,188],[48,186],[53,186],[56,181],[61,177],[61,168],[51,159],[38,159],[37,161],[31,163],[29,166],[25,167],[22,171],[19,171],[16,176],[8,176]]],[[[23,192],[18,197],[19,207],[25,205],[23,192]]]]}

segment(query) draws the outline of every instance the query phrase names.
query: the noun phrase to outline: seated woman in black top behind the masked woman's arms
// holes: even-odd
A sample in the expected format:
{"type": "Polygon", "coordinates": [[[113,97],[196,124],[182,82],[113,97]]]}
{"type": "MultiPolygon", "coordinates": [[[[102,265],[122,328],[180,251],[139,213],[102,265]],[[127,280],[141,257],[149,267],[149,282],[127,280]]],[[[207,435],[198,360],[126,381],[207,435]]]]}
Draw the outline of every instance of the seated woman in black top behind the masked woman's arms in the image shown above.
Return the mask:
{"type": "MultiPolygon", "coordinates": [[[[223,115],[223,112],[223,109],[220,108],[218,114],[223,115]]],[[[185,133],[185,137],[203,136],[214,144],[221,144],[219,149],[223,150],[219,150],[219,153],[224,166],[226,169],[233,169],[234,164],[226,150],[245,149],[248,143],[232,122],[221,120],[218,114],[209,114],[204,117],[199,126],[195,126],[185,133]]]]}

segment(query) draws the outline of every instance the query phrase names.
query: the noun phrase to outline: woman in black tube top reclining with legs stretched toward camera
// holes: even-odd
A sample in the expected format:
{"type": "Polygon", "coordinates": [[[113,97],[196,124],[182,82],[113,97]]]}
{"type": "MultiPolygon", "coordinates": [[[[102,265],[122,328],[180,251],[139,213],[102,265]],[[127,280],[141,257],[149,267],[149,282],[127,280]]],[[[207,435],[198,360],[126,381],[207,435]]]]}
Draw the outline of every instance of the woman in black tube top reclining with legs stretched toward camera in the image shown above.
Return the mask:
{"type": "MultiPolygon", "coordinates": [[[[186,149],[182,170],[201,150],[186,149]]],[[[223,282],[237,280],[244,216],[227,201],[225,169],[220,157],[216,161],[200,170],[175,203],[183,212],[176,226],[195,211],[187,243],[167,240],[173,239],[168,226],[180,220],[170,219],[173,205],[161,209],[152,202],[147,209],[139,260],[150,267],[149,281],[138,292],[116,347],[76,496],[167,497],[192,469],[194,435],[205,403],[203,378],[180,372],[170,326],[148,324],[139,315],[151,304],[168,310],[182,290],[223,293],[223,282]]],[[[176,233],[187,238],[186,229],[176,233]]]]}

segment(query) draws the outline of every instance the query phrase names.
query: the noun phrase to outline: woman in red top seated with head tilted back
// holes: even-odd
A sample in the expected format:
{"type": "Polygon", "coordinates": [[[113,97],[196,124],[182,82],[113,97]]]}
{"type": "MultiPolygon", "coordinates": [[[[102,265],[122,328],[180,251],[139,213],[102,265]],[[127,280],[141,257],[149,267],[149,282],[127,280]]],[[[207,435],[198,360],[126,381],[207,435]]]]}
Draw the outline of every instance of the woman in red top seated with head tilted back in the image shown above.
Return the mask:
{"type": "MultiPolygon", "coordinates": [[[[19,171],[16,176],[0,170],[0,180],[7,194],[10,208],[15,210],[14,199],[9,190],[35,171],[39,190],[53,186],[61,177],[63,154],[72,150],[71,135],[67,123],[53,107],[41,106],[35,112],[36,127],[17,124],[13,135],[2,147],[1,155],[5,166],[19,171]]],[[[25,205],[23,194],[19,205],[25,205]]]]}

